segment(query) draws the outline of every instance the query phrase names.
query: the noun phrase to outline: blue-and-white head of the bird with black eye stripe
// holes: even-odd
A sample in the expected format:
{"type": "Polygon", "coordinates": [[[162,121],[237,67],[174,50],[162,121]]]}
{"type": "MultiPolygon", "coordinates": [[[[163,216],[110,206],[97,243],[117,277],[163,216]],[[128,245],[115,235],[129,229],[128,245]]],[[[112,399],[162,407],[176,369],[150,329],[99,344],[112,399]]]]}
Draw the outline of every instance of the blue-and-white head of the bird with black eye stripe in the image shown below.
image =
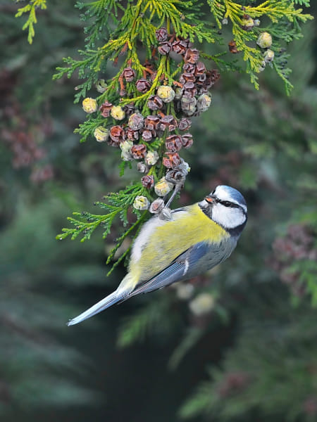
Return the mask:
{"type": "Polygon", "coordinates": [[[234,236],[240,236],[247,223],[247,203],[235,188],[220,185],[199,203],[201,210],[234,236]]]}

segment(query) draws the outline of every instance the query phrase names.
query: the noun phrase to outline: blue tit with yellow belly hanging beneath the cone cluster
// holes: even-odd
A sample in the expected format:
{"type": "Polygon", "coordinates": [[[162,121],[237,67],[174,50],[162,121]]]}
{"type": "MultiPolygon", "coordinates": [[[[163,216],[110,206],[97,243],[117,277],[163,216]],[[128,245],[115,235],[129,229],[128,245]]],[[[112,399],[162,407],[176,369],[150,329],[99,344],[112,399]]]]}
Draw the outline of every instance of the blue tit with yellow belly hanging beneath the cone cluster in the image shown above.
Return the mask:
{"type": "Polygon", "coordinates": [[[247,223],[247,204],[230,186],[217,186],[204,200],[163,209],[144,224],[132,246],[128,274],[116,291],[68,326],[138,295],[185,281],[226,260],[247,223]]]}

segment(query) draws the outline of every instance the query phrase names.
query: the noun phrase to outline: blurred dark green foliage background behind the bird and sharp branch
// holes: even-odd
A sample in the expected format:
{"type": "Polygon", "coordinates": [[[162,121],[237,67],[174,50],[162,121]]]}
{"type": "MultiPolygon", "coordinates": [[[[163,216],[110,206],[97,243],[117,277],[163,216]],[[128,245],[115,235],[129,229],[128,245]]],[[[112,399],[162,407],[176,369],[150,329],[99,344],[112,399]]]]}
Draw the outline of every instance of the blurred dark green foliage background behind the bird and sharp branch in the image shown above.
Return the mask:
{"type": "Polygon", "coordinates": [[[106,241],[55,236],[139,176],[79,143],[78,81],[51,80],[83,45],[73,2],[49,1],[32,46],[17,8],[0,5],[1,421],[317,421],[316,22],[290,46],[290,98],[270,68],[261,91],[223,74],[193,119],[178,204],[242,191],[249,222],[230,260],[68,328],[125,274],[106,278],[120,225],[106,241]]]}

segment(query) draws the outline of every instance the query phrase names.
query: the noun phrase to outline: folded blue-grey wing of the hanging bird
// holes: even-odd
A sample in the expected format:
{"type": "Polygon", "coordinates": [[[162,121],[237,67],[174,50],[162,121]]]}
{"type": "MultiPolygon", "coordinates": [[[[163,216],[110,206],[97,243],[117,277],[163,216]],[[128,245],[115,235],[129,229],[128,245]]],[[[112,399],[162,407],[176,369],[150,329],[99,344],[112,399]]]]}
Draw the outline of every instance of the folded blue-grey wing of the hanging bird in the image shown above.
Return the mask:
{"type": "Polygon", "coordinates": [[[179,255],[168,267],[166,267],[166,269],[163,269],[163,271],[152,279],[137,286],[137,288],[128,295],[128,298],[138,295],[139,293],[148,293],[157,290],[158,288],[168,286],[175,281],[187,278],[187,274],[188,278],[190,278],[191,275],[189,275],[189,270],[192,270],[193,267],[197,265],[197,262],[209,251],[210,245],[208,245],[208,243],[197,243],[197,245],[192,246],[179,255]]]}

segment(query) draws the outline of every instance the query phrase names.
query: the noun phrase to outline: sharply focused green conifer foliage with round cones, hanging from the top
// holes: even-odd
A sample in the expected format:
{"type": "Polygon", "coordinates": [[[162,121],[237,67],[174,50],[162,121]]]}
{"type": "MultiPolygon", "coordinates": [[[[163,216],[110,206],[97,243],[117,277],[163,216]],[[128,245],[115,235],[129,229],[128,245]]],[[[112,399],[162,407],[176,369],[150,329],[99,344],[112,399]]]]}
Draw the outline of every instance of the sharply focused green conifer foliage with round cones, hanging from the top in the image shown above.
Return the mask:
{"type": "MultiPolygon", "coordinates": [[[[179,190],[185,184],[190,167],[180,157],[180,150],[192,146],[188,132],[191,118],[209,108],[210,91],[220,76],[218,70],[206,69],[200,60],[210,60],[223,72],[247,72],[256,89],[259,72],[271,66],[290,94],[291,70],[286,67],[285,43],[301,37],[299,23],[311,16],[295,8],[290,0],[266,0],[258,5],[231,0],[206,2],[213,22],[204,14],[201,0],[135,0],[125,6],[115,0],[77,3],[80,18],[85,21],[85,49],[79,51],[79,59],[64,58],[66,66],[58,67],[54,75],[54,79],[63,75],[69,78],[77,72],[83,79],[76,87],[75,103],[84,98],[87,120],[75,133],[80,134],[80,141],[94,137],[120,148],[120,175],[135,161],[144,175],[137,184],[106,196],[108,204],[97,203],[105,210],[104,215],[75,212],[68,219],[73,228],[63,229],[58,238],[81,235],[81,241],[85,241],[99,226],[106,238],[116,217],[124,226],[128,224],[131,208],[137,222],[117,239],[108,258],[111,260],[123,240],[141,226],[147,215],[142,211],[159,212],[161,198],[167,201],[174,188],[179,190]],[[267,27],[261,27],[262,18],[270,21],[267,27]],[[223,37],[218,30],[228,23],[232,32],[230,53],[242,53],[244,66],[239,56],[228,60],[228,51],[212,55],[197,49],[203,41],[221,45],[223,37]],[[116,75],[106,79],[109,61],[120,65],[116,75]],[[93,91],[98,94],[87,96],[93,91]]],[[[304,6],[308,3],[297,1],[304,6]]],[[[31,39],[35,8],[45,5],[44,0],[34,0],[18,11],[18,15],[30,11],[27,25],[31,39]]]]}

